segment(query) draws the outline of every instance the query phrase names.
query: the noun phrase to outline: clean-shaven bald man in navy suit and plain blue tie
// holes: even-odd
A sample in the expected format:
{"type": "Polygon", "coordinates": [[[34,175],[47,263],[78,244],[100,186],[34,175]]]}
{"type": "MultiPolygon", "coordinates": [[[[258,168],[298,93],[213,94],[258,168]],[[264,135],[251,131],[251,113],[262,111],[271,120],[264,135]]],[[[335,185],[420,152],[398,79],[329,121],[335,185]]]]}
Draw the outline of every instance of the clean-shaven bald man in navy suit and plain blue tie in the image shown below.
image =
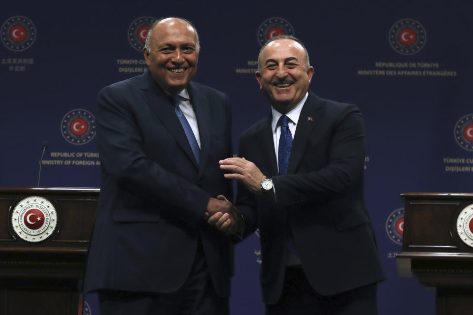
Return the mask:
{"type": "Polygon", "coordinates": [[[228,97],[191,82],[199,39],[166,18],[148,32],[149,71],[101,90],[101,193],[85,276],[101,315],[229,313],[234,248],[205,214],[239,214],[218,161],[232,155],[228,97]]]}

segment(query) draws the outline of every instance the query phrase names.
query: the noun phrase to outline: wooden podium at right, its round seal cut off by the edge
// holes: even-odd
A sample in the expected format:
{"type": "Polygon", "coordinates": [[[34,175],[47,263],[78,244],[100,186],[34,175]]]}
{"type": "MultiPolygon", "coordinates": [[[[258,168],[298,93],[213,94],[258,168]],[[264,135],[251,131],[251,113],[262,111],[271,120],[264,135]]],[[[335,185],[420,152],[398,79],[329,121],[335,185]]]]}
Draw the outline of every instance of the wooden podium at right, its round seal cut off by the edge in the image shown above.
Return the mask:
{"type": "Polygon", "coordinates": [[[398,275],[436,287],[437,315],[473,307],[473,193],[411,193],[405,199],[398,275]]]}

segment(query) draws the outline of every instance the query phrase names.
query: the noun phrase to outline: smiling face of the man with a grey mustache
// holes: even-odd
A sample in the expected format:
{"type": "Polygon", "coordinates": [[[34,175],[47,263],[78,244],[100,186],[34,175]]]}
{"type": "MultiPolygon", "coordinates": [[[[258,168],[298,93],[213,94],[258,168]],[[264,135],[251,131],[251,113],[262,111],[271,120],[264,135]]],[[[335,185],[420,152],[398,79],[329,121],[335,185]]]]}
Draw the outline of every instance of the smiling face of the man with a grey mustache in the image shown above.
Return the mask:
{"type": "Polygon", "coordinates": [[[287,113],[297,105],[309,89],[314,69],[307,67],[304,47],[292,39],[270,42],[260,56],[256,80],[271,105],[287,113]]]}

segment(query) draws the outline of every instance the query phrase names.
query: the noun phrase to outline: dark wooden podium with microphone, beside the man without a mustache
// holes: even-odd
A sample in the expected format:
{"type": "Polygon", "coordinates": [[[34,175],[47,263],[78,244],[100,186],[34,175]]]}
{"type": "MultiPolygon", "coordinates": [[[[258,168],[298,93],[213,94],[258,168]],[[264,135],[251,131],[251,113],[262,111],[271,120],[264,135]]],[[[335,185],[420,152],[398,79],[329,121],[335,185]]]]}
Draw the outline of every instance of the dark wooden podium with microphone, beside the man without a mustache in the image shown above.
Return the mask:
{"type": "Polygon", "coordinates": [[[0,188],[0,314],[78,315],[99,191],[0,188]]]}

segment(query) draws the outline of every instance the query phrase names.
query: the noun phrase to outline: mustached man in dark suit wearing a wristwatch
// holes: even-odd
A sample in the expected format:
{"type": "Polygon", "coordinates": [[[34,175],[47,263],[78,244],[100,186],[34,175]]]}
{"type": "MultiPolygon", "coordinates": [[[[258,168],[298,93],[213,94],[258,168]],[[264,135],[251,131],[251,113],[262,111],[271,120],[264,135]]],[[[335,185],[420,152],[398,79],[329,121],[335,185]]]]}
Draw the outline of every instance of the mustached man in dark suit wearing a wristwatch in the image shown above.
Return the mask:
{"type": "MultiPolygon", "coordinates": [[[[267,314],[376,314],[384,273],[364,203],[361,113],[308,91],[314,70],[292,36],[270,39],[258,67],[271,113],[220,167],[238,180],[244,234],[260,229],[267,314]]],[[[220,213],[209,223],[231,226],[220,213]]]]}

